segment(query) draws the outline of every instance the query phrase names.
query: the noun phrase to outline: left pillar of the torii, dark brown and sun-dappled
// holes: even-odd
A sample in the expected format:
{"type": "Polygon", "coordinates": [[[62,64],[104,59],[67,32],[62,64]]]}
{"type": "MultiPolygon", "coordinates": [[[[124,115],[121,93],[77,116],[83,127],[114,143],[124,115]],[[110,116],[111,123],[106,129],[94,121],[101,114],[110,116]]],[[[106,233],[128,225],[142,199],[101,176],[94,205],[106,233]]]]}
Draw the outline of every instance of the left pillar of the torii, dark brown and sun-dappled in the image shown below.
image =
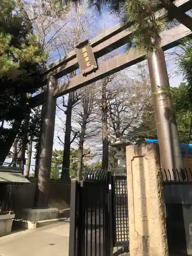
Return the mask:
{"type": "Polygon", "coordinates": [[[46,102],[42,122],[41,147],[38,162],[37,185],[34,199],[34,206],[39,208],[48,207],[51,159],[55,127],[56,97],[54,97],[54,92],[56,86],[57,79],[53,76],[50,76],[48,78],[46,90],[46,102]]]}

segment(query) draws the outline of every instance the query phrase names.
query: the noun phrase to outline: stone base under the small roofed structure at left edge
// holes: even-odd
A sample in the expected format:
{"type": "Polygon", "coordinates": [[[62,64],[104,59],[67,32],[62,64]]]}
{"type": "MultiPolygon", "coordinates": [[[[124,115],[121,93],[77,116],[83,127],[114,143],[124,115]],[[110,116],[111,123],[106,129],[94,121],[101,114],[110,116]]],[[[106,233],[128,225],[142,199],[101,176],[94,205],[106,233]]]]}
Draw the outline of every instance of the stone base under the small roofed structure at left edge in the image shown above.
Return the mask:
{"type": "Polygon", "coordinates": [[[11,233],[14,214],[0,215],[0,236],[11,233]]]}

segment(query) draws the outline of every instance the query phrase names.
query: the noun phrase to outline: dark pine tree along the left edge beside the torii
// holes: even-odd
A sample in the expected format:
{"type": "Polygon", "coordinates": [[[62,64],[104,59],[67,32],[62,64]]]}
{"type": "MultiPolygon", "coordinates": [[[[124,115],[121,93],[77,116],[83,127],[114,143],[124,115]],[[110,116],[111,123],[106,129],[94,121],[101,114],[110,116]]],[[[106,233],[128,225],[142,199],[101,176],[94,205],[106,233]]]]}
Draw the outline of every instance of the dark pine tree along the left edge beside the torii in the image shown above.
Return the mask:
{"type": "Polygon", "coordinates": [[[13,0],[0,2],[0,164],[30,115],[27,95],[41,86],[40,71],[46,60],[33,28],[13,0]],[[10,129],[4,128],[4,123],[10,129]]]}

